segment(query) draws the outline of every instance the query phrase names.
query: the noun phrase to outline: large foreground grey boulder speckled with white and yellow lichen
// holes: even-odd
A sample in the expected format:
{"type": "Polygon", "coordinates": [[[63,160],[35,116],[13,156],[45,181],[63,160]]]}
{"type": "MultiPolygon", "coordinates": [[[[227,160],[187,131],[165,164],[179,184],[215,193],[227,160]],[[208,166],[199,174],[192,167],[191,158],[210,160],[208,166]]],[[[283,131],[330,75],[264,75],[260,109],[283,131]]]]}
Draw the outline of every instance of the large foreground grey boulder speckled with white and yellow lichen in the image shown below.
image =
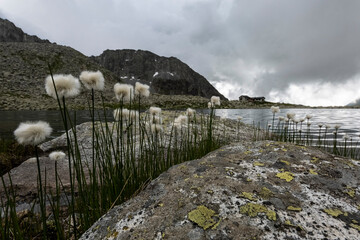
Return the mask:
{"type": "Polygon", "coordinates": [[[81,239],[360,239],[359,173],[316,148],[234,143],[170,168],[81,239]]]}

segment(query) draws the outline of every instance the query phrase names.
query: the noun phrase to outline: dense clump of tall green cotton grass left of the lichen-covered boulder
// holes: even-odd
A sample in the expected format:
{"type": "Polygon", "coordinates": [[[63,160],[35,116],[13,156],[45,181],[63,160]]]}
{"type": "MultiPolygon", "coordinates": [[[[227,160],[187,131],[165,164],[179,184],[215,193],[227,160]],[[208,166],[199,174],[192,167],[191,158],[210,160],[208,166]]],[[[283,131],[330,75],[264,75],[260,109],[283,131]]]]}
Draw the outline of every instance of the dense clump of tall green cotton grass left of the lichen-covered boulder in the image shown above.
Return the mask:
{"type": "Polygon", "coordinates": [[[42,239],[77,239],[109,209],[136,195],[149,181],[171,166],[200,158],[223,143],[225,132],[221,136],[214,133],[217,125],[215,106],[220,105],[218,97],[211,99],[209,115],[196,114],[196,111],[188,109],[180,116],[174,116],[174,120],[167,119],[167,124],[164,124],[160,108],[143,111],[142,102],[149,97],[149,86],[141,83],[136,83],[135,87],[117,84],[114,87],[118,100],[114,104],[114,119],[108,119],[106,111],[109,109],[104,101],[100,111],[103,116],[95,111],[95,95],[100,94],[104,99],[101,93],[104,85],[102,74],[85,72],[80,80],[88,89],[91,149],[84,152],[78,141],[76,115],[71,118],[67,108],[70,98],[80,92],[79,80],[70,75],[53,75],[50,71],[46,78],[46,91],[58,103],[67,149],[64,153],[51,154],[55,172],[46,173],[46,170],[40,170],[36,146],[44,139],[37,139],[33,144],[38,165],[38,192],[33,201],[34,207],[29,210],[28,216],[31,217],[26,221],[29,227],[22,226],[24,221],[16,211],[16,192],[10,174],[7,176],[10,186],[2,178],[6,190],[5,199],[1,202],[2,239],[38,236],[42,239]],[[103,120],[95,121],[95,117],[103,120]],[[68,188],[64,187],[57,171],[57,161],[64,157],[69,162],[68,188]],[[51,192],[47,188],[47,174],[56,176],[55,188],[51,192]],[[39,210],[34,211],[35,208],[39,210]]]}

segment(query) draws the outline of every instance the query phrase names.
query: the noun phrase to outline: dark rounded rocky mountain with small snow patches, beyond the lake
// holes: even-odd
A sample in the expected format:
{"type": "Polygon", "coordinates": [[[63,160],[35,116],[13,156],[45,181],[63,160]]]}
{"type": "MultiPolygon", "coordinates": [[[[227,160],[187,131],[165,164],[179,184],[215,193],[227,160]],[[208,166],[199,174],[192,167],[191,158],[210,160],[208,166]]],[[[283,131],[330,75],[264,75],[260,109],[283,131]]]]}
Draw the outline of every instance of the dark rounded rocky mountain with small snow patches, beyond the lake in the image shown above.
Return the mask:
{"type": "Polygon", "coordinates": [[[166,95],[194,95],[210,98],[221,95],[203,76],[175,57],[161,57],[142,50],[106,50],[92,57],[123,81],[142,81],[153,93],[166,95]]]}

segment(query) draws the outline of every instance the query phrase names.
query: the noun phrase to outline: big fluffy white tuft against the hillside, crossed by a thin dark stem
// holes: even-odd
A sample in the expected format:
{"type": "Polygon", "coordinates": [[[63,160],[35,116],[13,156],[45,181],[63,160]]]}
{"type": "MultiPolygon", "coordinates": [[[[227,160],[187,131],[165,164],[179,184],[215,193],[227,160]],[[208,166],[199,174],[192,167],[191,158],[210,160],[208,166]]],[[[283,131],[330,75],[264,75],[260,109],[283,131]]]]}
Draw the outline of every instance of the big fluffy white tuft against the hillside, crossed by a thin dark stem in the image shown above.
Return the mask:
{"type": "Polygon", "coordinates": [[[59,96],[59,99],[63,97],[65,98],[75,97],[80,93],[79,79],[75,78],[74,76],[70,74],[69,75],[55,74],[53,75],[53,78],[54,78],[56,91],[51,76],[47,76],[47,78],[45,79],[45,90],[46,93],[49,96],[53,97],[54,99],[57,99],[56,92],[57,95],[59,96]]]}

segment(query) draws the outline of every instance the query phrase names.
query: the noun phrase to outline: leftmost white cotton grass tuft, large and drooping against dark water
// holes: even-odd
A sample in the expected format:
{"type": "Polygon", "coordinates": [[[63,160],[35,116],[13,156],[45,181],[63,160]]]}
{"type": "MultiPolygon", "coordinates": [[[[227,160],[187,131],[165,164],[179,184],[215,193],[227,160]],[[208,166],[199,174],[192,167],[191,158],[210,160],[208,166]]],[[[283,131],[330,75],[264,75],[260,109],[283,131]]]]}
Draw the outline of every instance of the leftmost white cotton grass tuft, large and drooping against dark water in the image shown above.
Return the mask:
{"type": "Polygon", "coordinates": [[[14,131],[16,141],[22,145],[38,145],[52,133],[52,128],[47,122],[20,123],[14,131]]]}

